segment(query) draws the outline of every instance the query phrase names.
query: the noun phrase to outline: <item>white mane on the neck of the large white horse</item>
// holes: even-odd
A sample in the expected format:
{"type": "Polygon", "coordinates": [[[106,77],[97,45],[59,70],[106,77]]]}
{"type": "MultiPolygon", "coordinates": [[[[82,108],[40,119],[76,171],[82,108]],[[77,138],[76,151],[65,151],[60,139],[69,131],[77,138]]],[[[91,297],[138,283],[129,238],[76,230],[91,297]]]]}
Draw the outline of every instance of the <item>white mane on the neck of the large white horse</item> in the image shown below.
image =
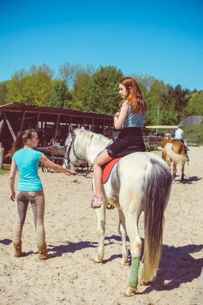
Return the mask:
{"type": "Polygon", "coordinates": [[[112,143],[112,140],[108,139],[107,137],[101,135],[101,134],[96,134],[90,130],[83,130],[80,128],[74,129],[74,132],[77,135],[77,140],[80,143],[80,151],[85,151],[87,147],[91,145],[92,139],[94,138],[95,140],[98,141],[103,141],[106,145],[109,145],[112,143]]]}

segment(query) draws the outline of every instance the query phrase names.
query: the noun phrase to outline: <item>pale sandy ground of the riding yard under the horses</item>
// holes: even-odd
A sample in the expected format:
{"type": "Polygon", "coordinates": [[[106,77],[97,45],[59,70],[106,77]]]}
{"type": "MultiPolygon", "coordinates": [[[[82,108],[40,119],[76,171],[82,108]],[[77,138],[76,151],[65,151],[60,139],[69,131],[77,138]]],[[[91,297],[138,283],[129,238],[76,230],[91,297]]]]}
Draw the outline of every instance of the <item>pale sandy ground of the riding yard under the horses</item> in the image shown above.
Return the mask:
{"type": "MultiPolygon", "coordinates": [[[[161,150],[155,154],[161,155],[161,150]]],[[[9,201],[8,174],[1,175],[0,304],[188,304],[202,267],[202,156],[203,147],[190,148],[190,163],[185,166],[183,182],[178,166],[165,211],[157,279],[151,286],[139,286],[138,294],[132,298],[123,296],[130,267],[119,264],[121,240],[116,209],[107,211],[104,263],[92,261],[97,250],[96,215],[89,208],[92,174],[88,178],[73,177],[39,169],[46,198],[47,245],[54,255],[47,261],[38,259],[30,206],[22,238],[27,255],[13,256],[15,203],[9,201]]],[[[139,229],[143,239],[143,214],[139,229]]],[[[127,245],[129,249],[129,241],[127,245]]]]}

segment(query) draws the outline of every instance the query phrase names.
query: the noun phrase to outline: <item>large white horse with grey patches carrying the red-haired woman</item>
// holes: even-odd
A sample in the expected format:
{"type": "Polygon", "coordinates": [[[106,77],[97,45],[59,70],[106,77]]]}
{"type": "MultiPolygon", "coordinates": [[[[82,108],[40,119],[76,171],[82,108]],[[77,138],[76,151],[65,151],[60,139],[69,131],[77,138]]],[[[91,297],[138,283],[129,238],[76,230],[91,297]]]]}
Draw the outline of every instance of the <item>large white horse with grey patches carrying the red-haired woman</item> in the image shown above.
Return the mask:
{"type": "MultiPolygon", "coordinates": [[[[66,155],[63,166],[76,168],[82,161],[93,164],[95,157],[112,140],[89,130],[71,127],[66,139],[66,155]]],[[[111,171],[110,178],[103,185],[105,204],[96,209],[98,250],[94,261],[104,259],[106,208],[109,204],[118,208],[118,232],[122,240],[122,265],[129,265],[126,235],[130,240],[131,270],[126,296],[136,294],[138,268],[142,250],[142,240],[138,232],[141,212],[145,211],[144,267],[140,285],[153,281],[157,275],[161,249],[164,210],[172,187],[171,171],[166,163],[152,153],[133,153],[120,159],[111,171]]]]}

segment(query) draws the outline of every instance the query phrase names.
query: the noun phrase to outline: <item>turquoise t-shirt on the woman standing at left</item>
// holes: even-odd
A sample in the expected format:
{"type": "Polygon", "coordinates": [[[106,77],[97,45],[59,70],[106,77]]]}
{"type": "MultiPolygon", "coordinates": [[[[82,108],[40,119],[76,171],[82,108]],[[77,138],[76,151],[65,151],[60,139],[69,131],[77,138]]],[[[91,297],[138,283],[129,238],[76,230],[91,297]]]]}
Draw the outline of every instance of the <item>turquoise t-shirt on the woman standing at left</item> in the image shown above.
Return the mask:
{"type": "Polygon", "coordinates": [[[38,176],[38,164],[42,155],[40,151],[32,148],[22,148],[13,155],[19,171],[18,191],[38,192],[43,190],[38,176]]]}

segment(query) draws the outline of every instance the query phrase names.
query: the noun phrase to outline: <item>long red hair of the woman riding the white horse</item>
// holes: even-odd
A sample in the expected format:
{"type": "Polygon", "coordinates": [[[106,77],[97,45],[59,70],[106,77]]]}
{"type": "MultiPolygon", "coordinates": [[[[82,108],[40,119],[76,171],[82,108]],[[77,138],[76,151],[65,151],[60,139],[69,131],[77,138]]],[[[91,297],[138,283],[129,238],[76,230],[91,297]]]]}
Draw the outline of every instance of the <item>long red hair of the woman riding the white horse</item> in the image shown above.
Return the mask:
{"type": "Polygon", "coordinates": [[[137,82],[131,77],[125,77],[120,81],[120,84],[125,86],[128,95],[119,105],[122,105],[122,103],[127,100],[130,104],[133,116],[137,112],[145,115],[145,112],[147,111],[147,104],[142,97],[142,93],[137,82]]]}

